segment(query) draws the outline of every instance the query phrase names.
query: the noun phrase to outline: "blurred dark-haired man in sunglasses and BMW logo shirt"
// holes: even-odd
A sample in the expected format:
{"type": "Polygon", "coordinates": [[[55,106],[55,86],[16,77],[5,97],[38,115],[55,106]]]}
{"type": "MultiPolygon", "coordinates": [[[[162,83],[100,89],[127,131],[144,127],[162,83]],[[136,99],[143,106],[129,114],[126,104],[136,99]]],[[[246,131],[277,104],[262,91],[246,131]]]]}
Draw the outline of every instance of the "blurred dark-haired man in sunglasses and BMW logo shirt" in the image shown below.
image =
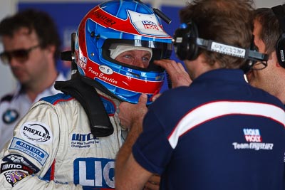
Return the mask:
{"type": "Polygon", "coordinates": [[[33,102],[58,93],[54,82],[66,78],[56,69],[61,41],[56,24],[46,12],[28,9],[6,17],[0,23],[0,38],[4,47],[0,62],[11,68],[18,82],[14,92],[1,97],[1,149],[33,102]]]}

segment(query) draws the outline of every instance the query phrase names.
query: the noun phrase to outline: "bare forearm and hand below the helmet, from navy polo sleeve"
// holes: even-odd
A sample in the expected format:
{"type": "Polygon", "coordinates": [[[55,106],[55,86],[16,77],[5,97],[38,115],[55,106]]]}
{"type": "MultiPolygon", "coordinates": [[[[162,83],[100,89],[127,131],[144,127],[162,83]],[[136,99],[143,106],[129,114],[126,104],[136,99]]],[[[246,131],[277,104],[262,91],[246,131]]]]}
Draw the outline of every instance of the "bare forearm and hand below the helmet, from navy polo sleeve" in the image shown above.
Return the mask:
{"type": "Polygon", "coordinates": [[[143,189],[143,186],[147,184],[147,179],[151,181],[157,180],[150,178],[152,173],[141,167],[132,154],[133,144],[142,132],[142,120],[147,112],[146,103],[147,95],[140,95],[138,104],[122,102],[119,105],[120,112],[118,117],[120,124],[130,130],[115,162],[116,189],[143,189]],[[128,180],[126,181],[125,179],[128,180]]]}

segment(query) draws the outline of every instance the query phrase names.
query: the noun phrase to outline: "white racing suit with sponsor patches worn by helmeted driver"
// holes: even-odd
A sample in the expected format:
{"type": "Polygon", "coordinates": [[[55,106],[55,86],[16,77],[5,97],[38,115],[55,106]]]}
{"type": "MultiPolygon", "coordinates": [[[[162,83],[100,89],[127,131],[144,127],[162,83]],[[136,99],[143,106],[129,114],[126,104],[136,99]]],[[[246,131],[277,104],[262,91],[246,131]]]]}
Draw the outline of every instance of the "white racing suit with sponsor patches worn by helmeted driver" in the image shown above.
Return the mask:
{"type": "Polygon", "coordinates": [[[65,94],[36,102],[0,153],[0,189],[114,189],[114,159],[125,131],[119,101],[101,100],[114,132],[93,137],[80,103],[65,94]]]}

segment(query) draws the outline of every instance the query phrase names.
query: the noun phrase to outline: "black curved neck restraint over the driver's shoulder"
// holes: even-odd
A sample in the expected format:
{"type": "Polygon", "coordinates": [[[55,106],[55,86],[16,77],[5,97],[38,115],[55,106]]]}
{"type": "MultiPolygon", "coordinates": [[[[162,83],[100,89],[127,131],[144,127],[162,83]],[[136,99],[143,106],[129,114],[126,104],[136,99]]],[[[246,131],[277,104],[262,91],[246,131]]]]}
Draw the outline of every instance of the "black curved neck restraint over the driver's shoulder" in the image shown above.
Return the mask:
{"type": "Polygon", "coordinates": [[[88,116],[90,130],[94,137],[107,137],[113,134],[113,125],[98,93],[95,88],[84,83],[78,73],[74,74],[71,80],[56,81],[54,87],[81,103],[88,116]]]}

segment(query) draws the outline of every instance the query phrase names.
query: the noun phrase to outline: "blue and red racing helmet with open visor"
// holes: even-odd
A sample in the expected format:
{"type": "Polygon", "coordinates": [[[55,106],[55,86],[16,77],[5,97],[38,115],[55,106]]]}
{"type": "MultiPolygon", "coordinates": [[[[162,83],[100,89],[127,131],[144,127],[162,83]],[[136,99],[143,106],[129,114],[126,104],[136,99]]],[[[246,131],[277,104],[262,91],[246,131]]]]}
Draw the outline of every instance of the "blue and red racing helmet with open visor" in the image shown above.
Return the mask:
{"type": "Polygon", "coordinates": [[[165,70],[153,60],[170,58],[172,37],[162,28],[154,11],[140,1],[107,1],[91,9],[81,21],[75,40],[75,61],[83,78],[119,100],[137,103],[142,93],[148,104],[160,92],[165,70]],[[147,68],[110,58],[112,44],[152,48],[147,68]]]}

